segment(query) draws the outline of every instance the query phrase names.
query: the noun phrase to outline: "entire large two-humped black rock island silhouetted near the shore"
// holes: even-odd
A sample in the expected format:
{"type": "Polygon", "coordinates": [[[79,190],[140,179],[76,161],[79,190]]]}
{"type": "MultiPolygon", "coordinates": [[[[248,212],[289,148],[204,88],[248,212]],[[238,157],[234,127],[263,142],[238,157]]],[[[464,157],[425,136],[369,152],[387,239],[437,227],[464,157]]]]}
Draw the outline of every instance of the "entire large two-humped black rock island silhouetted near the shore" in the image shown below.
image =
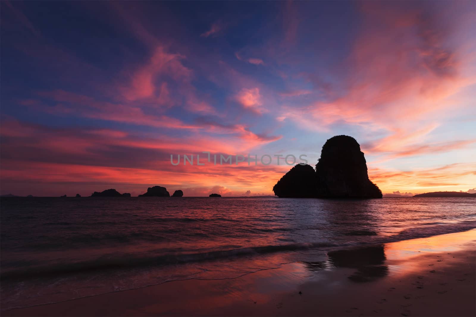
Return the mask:
{"type": "Polygon", "coordinates": [[[331,137],[322,146],[316,169],[297,164],[274,185],[280,198],[382,198],[368,179],[367,162],[357,140],[331,137]]]}

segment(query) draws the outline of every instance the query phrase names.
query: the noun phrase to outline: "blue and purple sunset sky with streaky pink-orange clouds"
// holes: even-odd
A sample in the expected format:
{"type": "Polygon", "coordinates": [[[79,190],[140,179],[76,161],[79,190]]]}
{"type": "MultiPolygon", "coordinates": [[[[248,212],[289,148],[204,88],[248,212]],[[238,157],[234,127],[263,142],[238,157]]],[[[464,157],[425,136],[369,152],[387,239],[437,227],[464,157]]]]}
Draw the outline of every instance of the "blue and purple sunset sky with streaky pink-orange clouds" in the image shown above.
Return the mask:
{"type": "Polygon", "coordinates": [[[0,6],[1,194],[272,195],[339,134],[384,193],[476,187],[474,1],[0,6]]]}

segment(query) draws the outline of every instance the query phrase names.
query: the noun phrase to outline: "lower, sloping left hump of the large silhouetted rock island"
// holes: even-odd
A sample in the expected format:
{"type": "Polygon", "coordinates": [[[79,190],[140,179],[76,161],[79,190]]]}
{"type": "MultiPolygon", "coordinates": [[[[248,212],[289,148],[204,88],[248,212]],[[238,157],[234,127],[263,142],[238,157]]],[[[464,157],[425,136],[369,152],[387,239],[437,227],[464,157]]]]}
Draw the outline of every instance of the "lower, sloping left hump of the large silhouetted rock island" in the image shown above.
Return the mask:
{"type": "Polygon", "coordinates": [[[316,197],[316,172],[311,165],[296,164],[274,185],[273,192],[281,198],[316,197]]]}

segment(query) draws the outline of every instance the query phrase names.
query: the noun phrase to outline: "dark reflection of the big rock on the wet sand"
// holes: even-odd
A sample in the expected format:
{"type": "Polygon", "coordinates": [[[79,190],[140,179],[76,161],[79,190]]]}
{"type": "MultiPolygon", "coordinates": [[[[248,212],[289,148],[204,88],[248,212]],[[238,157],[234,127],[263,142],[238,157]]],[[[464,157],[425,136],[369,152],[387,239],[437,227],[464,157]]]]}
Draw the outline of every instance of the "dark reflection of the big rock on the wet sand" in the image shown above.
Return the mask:
{"type": "Polygon", "coordinates": [[[388,274],[388,267],[383,265],[386,260],[383,245],[353,250],[330,251],[327,253],[327,256],[327,261],[304,262],[304,265],[312,272],[329,267],[356,269],[348,277],[354,282],[370,282],[388,274]]]}

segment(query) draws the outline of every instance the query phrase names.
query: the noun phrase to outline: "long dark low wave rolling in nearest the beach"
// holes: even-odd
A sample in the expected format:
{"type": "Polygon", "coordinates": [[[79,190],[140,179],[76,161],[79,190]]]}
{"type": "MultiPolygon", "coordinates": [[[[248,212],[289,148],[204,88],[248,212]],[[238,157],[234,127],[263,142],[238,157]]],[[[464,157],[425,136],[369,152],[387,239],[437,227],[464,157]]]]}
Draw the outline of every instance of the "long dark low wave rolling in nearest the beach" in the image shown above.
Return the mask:
{"type": "MultiPolygon", "coordinates": [[[[441,235],[452,232],[468,231],[476,228],[476,221],[461,221],[453,224],[444,225],[426,225],[415,228],[405,229],[399,233],[382,237],[376,236],[373,232],[367,231],[351,231],[344,233],[345,235],[370,235],[370,240],[352,241],[352,242],[299,242],[299,243],[287,243],[277,245],[264,245],[254,247],[233,247],[227,250],[201,250],[199,252],[189,252],[187,250],[173,252],[169,250],[155,250],[149,252],[142,252],[136,254],[121,254],[121,255],[107,255],[101,256],[96,259],[76,261],[70,263],[56,263],[45,266],[32,266],[31,263],[28,267],[21,267],[20,269],[7,269],[3,266],[0,274],[1,279],[22,279],[28,277],[38,277],[44,275],[57,275],[57,274],[76,274],[85,271],[94,270],[109,270],[109,269],[127,269],[130,267],[140,266],[164,266],[183,264],[191,262],[201,261],[214,261],[220,259],[237,258],[243,256],[253,256],[259,254],[275,253],[275,252],[293,252],[312,249],[339,249],[339,248],[353,248],[361,245],[368,244],[381,244],[396,242],[401,240],[409,240],[415,238],[425,238],[435,235],[441,235]],[[164,253],[165,252],[165,253],[164,253]],[[159,253],[159,254],[158,254],[159,253]]],[[[10,266],[12,267],[12,266],[10,266]]]]}

